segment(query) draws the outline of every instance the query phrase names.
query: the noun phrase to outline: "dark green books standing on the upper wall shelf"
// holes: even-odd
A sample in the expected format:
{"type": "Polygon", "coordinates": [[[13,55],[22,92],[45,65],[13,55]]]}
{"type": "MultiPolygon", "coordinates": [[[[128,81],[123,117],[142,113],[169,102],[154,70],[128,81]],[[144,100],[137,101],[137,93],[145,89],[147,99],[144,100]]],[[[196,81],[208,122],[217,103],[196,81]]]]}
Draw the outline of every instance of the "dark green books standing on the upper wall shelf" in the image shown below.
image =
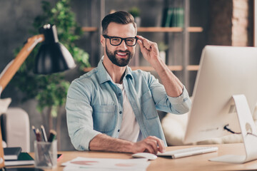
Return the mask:
{"type": "Polygon", "coordinates": [[[183,27],[184,10],[183,8],[170,7],[163,10],[163,27],[183,27]]]}

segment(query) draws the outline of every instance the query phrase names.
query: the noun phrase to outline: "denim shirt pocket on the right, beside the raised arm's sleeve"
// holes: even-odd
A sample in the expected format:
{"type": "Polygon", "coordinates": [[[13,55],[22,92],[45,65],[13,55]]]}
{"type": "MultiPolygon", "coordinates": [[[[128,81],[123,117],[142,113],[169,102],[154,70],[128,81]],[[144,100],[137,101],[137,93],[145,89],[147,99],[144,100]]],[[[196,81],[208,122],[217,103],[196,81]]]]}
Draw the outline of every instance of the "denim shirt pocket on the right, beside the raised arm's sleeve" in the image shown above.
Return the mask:
{"type": "Polygon", "coordinates": [[[147,120],[151,120],[158,117],[158,113],[155,107],[155,103],[153,102],[153,98],[151,96],[151,91],[148,90],[146,93],[143,93],[141,96],[141,110],[143,111],[143,115],[147,120]]]}

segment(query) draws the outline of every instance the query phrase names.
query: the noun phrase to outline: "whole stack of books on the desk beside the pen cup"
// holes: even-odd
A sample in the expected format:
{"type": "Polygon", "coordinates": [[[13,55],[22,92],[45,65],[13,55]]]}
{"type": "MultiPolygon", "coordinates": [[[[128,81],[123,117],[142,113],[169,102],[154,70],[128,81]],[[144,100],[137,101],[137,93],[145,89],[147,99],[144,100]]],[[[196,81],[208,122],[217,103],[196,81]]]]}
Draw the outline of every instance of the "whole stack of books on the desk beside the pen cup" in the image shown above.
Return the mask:
{"type": "Polygon", "coordinates": [[[34,165],[34,159],[28,152],[21,152],[21,147],[5,147],[4,164],[6,166],[34,165]]]}

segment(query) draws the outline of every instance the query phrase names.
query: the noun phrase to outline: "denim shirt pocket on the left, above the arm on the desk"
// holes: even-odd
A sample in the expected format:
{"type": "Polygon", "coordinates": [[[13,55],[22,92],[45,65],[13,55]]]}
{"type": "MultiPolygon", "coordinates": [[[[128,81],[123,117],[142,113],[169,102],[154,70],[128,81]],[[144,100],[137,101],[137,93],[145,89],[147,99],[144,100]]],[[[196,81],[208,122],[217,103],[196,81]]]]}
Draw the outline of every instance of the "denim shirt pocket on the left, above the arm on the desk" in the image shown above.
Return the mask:
{"type": "Polygon", "coordinates": [[[94,105],[94,130],[106,134],[111,133],[116,125],[116,117],[115,105],[94,105]]]}

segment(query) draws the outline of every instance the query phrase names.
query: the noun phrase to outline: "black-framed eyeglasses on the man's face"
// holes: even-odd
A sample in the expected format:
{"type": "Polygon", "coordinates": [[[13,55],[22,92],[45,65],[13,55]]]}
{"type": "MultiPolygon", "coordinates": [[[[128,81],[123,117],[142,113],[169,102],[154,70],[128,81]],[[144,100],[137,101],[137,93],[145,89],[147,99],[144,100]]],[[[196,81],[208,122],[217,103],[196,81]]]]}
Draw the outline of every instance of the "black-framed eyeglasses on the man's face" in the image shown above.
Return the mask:
{"type": "Polygon", "coordinates": [[[107,36],[105,34],[103,36],[104,36],[104,38],[109,38],[110,39],[110,43],[111,43],[112,46],[119,46],[123,40],[125,41],[127,46],[135,46],[136,41],[138,40],[138,38],[136,36],[135,37],[129,37],[129,38],[107,36]]]}

